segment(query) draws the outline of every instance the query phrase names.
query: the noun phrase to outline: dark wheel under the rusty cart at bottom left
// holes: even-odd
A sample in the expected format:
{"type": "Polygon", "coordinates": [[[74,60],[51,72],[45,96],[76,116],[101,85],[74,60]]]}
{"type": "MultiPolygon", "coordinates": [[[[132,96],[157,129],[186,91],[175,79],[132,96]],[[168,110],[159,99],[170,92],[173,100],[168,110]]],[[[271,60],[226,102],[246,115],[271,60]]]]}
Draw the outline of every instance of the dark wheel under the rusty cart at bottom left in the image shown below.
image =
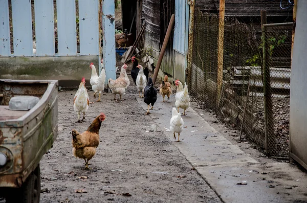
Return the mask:
{"type": "Polygon", "coordinates": [[[40,169],[39,165],[29,175],[20,189],[15,191],[14,197],[7,197],[7,203],[39,203],[40,198],[40,169]]]}

